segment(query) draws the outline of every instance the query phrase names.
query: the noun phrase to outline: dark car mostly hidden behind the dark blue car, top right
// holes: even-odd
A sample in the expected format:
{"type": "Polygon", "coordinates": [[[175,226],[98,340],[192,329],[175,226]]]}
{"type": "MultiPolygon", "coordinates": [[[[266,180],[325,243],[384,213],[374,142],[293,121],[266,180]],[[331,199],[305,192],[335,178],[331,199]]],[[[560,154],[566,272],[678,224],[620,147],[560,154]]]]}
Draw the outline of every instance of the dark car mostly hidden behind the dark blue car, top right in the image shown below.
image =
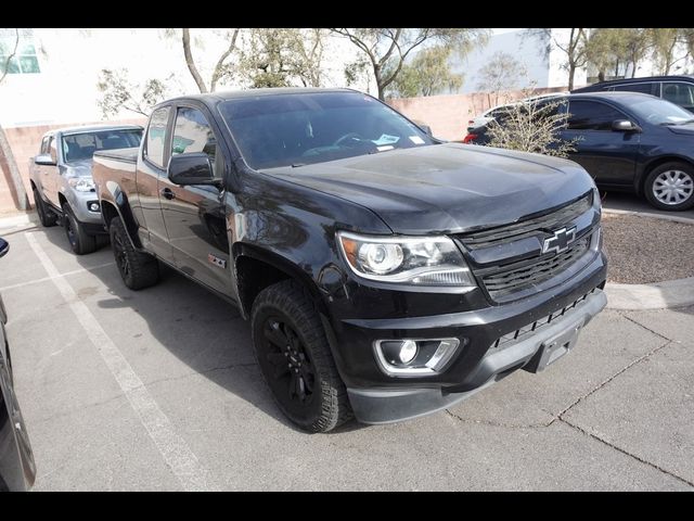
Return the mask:
{"type": "Polygon", "coordinates": [[[694,76],[651,76],[646,78],[613,79],[574,89],[571,93],[600,91],[652,94],[694,112],[694,76]]]}

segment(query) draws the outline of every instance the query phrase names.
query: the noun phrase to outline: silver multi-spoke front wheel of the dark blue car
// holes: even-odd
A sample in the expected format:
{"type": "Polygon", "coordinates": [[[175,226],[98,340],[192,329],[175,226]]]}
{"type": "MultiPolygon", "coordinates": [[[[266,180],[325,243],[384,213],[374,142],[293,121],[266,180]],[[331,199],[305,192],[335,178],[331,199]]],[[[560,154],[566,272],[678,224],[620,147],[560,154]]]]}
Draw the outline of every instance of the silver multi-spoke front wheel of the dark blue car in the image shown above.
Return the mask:
{"type": "Polygon", "coordinates": [[[689,209],[694,206],[694,167],[678,161],[657,166],[646,177],[644,191],[658,209],[689,209]]]}

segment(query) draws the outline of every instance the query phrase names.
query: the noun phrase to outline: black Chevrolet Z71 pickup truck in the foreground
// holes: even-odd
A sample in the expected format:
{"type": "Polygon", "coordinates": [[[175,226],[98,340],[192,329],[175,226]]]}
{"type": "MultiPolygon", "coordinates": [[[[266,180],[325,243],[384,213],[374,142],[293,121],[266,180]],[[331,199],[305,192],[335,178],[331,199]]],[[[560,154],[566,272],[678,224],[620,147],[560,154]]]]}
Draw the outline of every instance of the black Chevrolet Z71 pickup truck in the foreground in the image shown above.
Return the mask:
{"type": "Polygon", "coordinates": [[[93,179],[126,285],[162,262],[235,303],[312,432],[541,371],[606,304],[583,168],[440,142],[352,90],[166,101],[140,149],[94,154],[93,179]]]}

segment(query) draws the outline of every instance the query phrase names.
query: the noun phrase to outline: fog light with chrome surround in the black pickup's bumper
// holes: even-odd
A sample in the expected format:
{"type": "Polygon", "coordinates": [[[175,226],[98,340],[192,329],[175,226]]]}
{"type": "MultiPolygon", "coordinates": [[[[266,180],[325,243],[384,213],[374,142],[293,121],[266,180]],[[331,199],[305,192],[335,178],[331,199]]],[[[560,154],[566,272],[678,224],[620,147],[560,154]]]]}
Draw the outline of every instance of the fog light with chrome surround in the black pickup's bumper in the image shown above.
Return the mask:
{"type": "Polygon", "coordinates": [[[386,374],[422,377],[446,369],[460,343],[458,339],[378,340],[374,342],[374,352],[386,374]]]}

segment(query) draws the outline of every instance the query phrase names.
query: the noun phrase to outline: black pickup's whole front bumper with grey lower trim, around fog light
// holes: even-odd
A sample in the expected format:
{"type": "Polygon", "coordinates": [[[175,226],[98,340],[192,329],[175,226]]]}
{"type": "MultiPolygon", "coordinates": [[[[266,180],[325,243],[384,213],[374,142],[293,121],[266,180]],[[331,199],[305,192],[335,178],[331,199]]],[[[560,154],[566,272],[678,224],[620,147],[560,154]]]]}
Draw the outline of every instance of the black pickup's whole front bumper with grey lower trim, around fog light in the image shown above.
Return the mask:
{"type": "MultiPolygon", "coordinates": [[[[560,334],[563,328],[580,329],[605,306],[602,288],[606,272],[605,256],[597,252],[588,265],[561,284],[500,305],[481,302],[479,291],[462,296],[413,294],[411,301],[403,303],[400,295],[387,298],[384,297],[387,293],[373,290],[370,294],[374,305],[369,306],[369,300],[352,291],[351,301],[362,304],[358,310],[362,315],[369,316],[371,308],[374,314],[376,309],[383,310],[386,303],[406,309],[400,316],[396,313],[386,315],[393,318],[338,318],[334,315],[333,320],[325,318],[333,355],[357,419],[364,423],[382,423],[434,412],[516,369],[529,368],[537,361],[532,357],[543,342],[560,334]],[[439,310],[454,303],[451,298],[459,300],[459,309],[470,306],[467,309],[471,310],[439,310]],[[430,305],[430,314],[408,313],[407,309],[415,309],[410,302],[426,302],[430,305]],[[564,315],[565,310],[568,312],[564,315]],[[540,323],[548,316],[555,318],[527,333],[529,325],[540,323]],[[518,333],[518,339],[512,342],[498,344],[497,341],[507,339],[515,331],[523,334],[518,333]],[[373,345],[377,340],[446,338],[459,339],[460,347],[438,374],[391,377],[375,361],[373,345]]],[[[333,304],[333,310],[337,309],[336,302],[333,304]]]]}

